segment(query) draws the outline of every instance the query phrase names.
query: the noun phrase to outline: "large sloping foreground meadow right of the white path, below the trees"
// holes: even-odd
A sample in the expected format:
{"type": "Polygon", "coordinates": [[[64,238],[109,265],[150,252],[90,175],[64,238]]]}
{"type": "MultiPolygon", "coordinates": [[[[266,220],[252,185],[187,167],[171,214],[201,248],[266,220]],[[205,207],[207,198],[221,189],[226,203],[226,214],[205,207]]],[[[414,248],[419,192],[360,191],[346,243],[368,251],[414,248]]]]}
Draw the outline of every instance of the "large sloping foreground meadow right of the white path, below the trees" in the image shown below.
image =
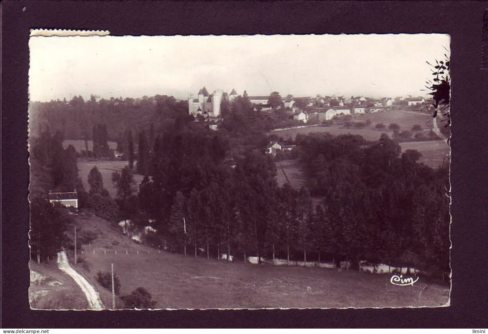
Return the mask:
{"type": "MultiPolygon", "coordinates": [[[[392,285],[388,275],[158,253],[130,242],[114,223],[93,216],[80,216],[77,223],[99,231],[91,248],[84,247],[84,260],[77,269],[94,283],[105,305],[111,305],[110,293],[95,276],[99,270],[110,271],[111,263],[121,281],[121,296],[142,286],[153,295],[157,308],[407,307],[448,302],[447,287],[421,280],[401,287],[392,285]]],[[[119,298],[116,303],[122,306],[119,298]]]]}

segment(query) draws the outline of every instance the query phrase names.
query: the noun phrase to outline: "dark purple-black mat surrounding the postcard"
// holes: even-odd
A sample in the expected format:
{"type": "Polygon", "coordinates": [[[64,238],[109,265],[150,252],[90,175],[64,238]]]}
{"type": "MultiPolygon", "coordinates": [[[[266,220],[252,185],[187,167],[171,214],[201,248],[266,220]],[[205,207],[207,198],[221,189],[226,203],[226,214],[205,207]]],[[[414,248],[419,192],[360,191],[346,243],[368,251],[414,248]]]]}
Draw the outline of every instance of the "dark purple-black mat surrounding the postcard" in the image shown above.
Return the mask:
{"type": "Polygon", "coordinates": [[[487,2],[447,1],[3,1],[1,327],[488,327],[488,71],[480,70],[485,8],[487,2]],[[449,34],[453,120],[451,306],[382,310],[29,310],[26,129],[30,28],[108,29],[112,35],[449,34]]]}

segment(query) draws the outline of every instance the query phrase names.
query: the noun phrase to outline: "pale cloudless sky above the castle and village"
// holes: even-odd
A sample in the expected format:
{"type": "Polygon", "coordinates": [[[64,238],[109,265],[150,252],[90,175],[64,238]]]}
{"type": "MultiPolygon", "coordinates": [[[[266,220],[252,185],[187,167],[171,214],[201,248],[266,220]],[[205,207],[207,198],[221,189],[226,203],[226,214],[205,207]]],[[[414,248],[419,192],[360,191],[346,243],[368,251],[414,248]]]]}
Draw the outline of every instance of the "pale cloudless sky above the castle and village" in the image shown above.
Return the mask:
{"type": "Polygon", "coordinates": [[[449,42],[443,34],[31,37],[29,94],[186,99],[205,86],[249,95],[427,96],[426,61],[445,59],[449,42]]]}

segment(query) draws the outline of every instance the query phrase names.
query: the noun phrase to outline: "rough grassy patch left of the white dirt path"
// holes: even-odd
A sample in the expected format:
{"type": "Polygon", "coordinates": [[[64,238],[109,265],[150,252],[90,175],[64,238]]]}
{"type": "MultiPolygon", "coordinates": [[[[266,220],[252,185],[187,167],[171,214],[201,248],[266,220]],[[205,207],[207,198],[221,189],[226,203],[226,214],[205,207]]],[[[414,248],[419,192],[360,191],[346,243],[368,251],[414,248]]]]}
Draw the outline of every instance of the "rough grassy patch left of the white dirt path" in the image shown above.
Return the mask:
{"type": "Polygon", "coordinates": [[[88,302],[76,282],[64,274],[56,259],[48,263],[29,262],[31,308],[42,310],[86,309],[88,302]]]}

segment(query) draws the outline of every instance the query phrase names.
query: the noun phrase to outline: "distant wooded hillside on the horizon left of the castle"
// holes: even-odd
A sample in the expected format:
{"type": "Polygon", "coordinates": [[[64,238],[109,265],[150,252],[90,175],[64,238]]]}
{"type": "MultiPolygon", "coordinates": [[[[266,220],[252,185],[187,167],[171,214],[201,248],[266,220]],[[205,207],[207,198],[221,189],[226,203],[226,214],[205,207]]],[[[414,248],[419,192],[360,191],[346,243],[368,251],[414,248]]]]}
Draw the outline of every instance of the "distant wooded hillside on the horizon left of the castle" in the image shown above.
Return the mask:
{"type": "Polygon", "coordinates": [[[102,136],[113,141],[120,138],[123,129],[139,133],[154,124],[154,130],[160,131],[171,127],[180,117],[193,118],[188,115],[187,101],[177,101],[166,95],[101,100],[92,96],[87,101],[75,95],[70,101],[32,102],[29,116],[29,127],[34,136],[50,128],[60,131],[67,139],[95,140],[100,131],[93,129],[105,124],[102,136]]]}

